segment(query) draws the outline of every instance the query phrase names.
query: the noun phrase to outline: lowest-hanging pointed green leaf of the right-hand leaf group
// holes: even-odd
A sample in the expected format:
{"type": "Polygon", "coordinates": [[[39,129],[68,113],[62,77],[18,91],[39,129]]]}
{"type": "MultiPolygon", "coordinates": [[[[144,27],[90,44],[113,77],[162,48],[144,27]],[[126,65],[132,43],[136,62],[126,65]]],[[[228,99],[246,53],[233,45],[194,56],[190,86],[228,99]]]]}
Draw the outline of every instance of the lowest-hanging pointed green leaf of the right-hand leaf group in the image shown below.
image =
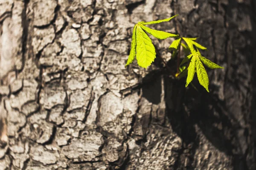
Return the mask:
{"type": "Polygon", "coordinates": [[[199,56],[196,55],[196,74],[198,76],[199,83],[209,92],[208,86],[209,86],[209,78],[207,75],[207,72],[204,68],[203,63],[199,59],[199,56]]]}

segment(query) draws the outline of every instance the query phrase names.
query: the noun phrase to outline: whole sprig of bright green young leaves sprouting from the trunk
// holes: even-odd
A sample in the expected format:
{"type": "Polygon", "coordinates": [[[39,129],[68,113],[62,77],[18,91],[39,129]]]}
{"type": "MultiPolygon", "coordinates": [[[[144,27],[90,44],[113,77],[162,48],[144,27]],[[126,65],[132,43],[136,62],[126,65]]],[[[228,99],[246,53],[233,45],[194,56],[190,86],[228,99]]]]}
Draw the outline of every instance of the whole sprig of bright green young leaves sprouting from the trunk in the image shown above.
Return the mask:
{"type": "Polygon", "coordinates": [[[151,39],[148,37],[147,33],[153,35],[160,40],[166,39],[168,37],[175,37],[176,40],[174,40],[169,47],[170,50],[174,51],[172,54],[172,58],[174,58],[178,52],[180,53],[181,46],[183,47],[183,50],[186,54],[186,56],[180,63],[179,68],[177,69],[178,72],[175,74],[175,77],[180,79],[181,77],[187,75],[185,85],[187,87],[189,83],[192,82],[196,73],[199,83],[209,92],[209,78],[204,68],[204,65],[211,69],[223,67],[215,64],[214,62],[211,62],[209,59],[201,55],[199,49],[206,50],[207,48],[195,42],[197,38],[179,37],[178,34],[158,31],[145,26],[149,24],[167,22],[169,20],[172,20],[172,18],[176,16],[177,15],[164,20],[137,23],[133,29],[131,51],[125,66],[131,64],[131,62],[134,61],[135,56],[138,65],[143,68],[147,68],[151,65],[152,62],[154,62],[154,59],[156,58],[156,52],[154,45],[151,39]],[[183,43],[183,41],[186,42],[186,45],[183,43]]]}

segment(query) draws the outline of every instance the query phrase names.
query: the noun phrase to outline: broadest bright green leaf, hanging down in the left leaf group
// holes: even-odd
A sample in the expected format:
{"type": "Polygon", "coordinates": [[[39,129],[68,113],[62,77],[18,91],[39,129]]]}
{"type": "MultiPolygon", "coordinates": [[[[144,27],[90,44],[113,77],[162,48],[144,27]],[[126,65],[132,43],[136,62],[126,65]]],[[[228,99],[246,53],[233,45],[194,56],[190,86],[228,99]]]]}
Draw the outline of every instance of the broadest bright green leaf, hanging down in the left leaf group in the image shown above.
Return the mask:
{"type": "Polygon", "coordinates": [[[140,26],[136,29],[136,58],[138,65],[147,68],[156,58],[156,52],[152,41],[140,26]]]}

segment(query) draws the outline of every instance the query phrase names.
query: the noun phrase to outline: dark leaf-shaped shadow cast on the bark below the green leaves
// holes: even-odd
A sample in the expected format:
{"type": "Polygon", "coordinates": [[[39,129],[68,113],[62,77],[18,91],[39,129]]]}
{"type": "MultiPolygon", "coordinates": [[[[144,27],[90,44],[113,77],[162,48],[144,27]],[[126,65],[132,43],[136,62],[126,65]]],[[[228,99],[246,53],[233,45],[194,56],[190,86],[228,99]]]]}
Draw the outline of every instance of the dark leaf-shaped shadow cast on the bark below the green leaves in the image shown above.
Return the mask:
{"type": "MultiPolygon", "coordinates": [[[[143,97],[153,104],[160,103],[161,74],[160,71],[152,71],[143,78],[143,97]]],[[[166,117],[172,129],[183,140],[183,146],[192,146],[189,156],[191,164],[188,168],[194,167],[192,163],[195,150],[200,144],[198,138],[200,133],[203,133],[218,150],[233,157],[234,169],[238,167],[248,169],[247,154],[242,153],[243,146],[236,135],[237,130],[242,128],[239,121],[228,113],[224,101],[211,93],[204,92],[198,82],[194,81],[194,84],[200,87],[199,92],[192,87],[185,89],[184,82],[185,79],[177,81],[164,75],[166,117]]],[[[245,130],[245,133],[247,136],[248,131],[245,130]]],[[[180,154],[182,152],[181,150],[180,154]]]]}

